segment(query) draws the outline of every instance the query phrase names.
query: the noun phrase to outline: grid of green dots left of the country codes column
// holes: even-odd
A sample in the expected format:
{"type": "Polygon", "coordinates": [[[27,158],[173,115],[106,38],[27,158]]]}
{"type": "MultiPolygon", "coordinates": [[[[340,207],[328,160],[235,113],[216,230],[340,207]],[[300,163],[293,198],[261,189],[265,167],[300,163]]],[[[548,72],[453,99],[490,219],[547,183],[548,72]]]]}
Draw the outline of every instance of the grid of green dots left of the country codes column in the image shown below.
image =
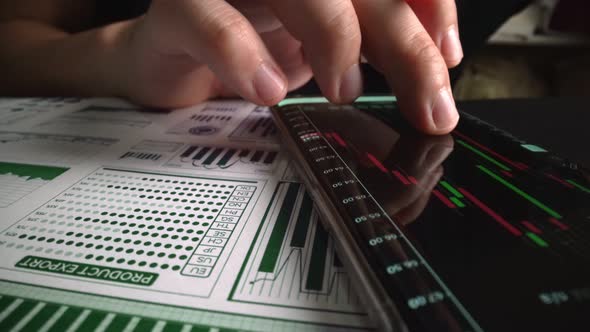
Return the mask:
{"type": "Polygon", "coordinates": [[[235,187],[100,170],[5,232],[0,247],[179,271],[235,187]]]}

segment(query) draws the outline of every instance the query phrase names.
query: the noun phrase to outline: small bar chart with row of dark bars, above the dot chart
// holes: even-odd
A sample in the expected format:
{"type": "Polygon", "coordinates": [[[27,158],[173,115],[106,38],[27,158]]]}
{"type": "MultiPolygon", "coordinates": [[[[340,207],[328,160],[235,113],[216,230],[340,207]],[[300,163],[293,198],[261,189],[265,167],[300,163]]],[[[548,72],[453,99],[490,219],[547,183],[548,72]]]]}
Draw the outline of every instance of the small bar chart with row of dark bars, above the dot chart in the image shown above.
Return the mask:
{"type": "Polygon", "coordinates": [[[224,170],[229,173],[256,173],[274,170],[278,161],[277,150],[191,145],[172,158],[166,166],[224,170]]]}

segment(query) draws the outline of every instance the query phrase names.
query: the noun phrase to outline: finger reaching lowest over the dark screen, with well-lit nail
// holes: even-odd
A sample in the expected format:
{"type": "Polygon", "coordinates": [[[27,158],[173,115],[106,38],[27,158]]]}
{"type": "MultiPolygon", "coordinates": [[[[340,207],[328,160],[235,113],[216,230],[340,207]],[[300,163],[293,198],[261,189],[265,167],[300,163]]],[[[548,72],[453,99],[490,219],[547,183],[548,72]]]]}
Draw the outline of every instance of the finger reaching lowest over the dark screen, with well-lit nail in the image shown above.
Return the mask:
{"type": "Polygon", "coordinates": [[[412,8],[402,0],[353,0],[363,53],[388,79],[401,111],[419,130],[444,134],[459,115],[447,64],[412,8]]]}

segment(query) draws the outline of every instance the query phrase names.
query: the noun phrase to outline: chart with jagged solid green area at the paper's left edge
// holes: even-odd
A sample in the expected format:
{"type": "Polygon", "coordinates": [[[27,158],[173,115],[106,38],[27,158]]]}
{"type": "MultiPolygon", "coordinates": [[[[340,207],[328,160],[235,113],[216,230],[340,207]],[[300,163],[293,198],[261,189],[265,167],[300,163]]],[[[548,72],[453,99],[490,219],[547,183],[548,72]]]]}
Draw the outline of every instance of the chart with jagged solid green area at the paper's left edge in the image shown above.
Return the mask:
{"type": "Polygon", "coordinates": [[[67,170],[62,167],[0,162],[0,208],[20,200],[67,170]]]}

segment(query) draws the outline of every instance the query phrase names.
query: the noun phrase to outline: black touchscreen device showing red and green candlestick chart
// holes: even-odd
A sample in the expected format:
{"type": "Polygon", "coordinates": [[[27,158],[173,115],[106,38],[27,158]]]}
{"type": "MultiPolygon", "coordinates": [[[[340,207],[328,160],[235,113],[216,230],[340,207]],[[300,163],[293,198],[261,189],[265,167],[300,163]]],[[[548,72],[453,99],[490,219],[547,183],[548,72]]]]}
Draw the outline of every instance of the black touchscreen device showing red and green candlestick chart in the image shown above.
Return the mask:
{"type": "Polygon", "coordinates": [[[465,113],[420,134],[390,96],[273,116],[380,329],[588,329],[588,170],[465,113]]]}

